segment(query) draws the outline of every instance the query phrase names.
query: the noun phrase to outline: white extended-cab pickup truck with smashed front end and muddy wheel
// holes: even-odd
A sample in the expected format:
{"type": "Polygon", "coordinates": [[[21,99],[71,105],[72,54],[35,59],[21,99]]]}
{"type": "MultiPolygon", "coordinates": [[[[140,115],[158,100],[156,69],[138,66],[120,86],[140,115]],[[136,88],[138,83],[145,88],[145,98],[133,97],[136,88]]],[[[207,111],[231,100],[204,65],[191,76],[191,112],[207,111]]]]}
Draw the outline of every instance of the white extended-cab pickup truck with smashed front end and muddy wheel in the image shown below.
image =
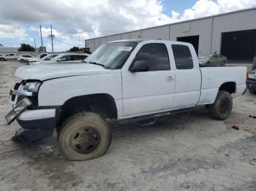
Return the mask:
{"type": "Polygon", "coordinates": [[[246,89],[246,67],[200,68],[192,44],[121,40],[99,47],[84,63],[20,67],[6,115],[22,127],[13,139],[34,141],[58,132],[67,160],[107,152],[108,121],[140,122],[206,106],[225,120],[246,89]]]}

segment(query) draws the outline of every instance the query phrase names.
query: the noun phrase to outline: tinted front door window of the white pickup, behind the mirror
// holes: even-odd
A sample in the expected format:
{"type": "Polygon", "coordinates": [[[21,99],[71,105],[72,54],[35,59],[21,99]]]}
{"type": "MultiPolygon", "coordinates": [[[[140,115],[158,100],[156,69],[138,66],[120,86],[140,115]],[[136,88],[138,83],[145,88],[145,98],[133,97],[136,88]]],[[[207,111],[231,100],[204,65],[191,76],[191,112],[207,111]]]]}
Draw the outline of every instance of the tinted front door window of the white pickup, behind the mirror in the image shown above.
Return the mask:
{"type": "Polygon", "coordinates": [[[148,71],[170,70],[169,56],[165,44],[146,44],[140,48],[135,61],[147,61],[148,71]]]}

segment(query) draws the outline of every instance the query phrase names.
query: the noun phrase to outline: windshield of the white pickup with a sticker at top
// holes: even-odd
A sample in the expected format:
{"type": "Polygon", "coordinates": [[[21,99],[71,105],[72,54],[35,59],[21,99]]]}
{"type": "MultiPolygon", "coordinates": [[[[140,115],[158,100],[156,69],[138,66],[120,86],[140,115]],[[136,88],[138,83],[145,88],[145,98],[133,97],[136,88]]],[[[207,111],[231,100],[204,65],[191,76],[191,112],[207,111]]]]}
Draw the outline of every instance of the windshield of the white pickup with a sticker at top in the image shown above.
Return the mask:
{"type": "Polygon", "coordinates": [[[136,42],[106,43],[86,58],[85,62],[103,66],[105,69],[121,69],[136,45],[136,42]]]}

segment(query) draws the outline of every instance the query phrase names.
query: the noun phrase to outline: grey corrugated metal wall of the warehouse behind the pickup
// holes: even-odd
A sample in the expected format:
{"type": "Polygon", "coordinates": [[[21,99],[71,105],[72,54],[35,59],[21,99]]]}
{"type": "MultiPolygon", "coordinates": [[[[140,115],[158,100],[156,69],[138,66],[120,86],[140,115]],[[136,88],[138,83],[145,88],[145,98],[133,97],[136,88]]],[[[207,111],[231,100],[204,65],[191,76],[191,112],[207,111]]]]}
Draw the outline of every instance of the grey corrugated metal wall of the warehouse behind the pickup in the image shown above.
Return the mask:
{"type": "Polygon", "coordinates": [[[130,31],[123,34],[87,39],[86,47],[93,52],[101,44],[119,39],[165,39],[176,41],[177,37],[199,35],[198,54],[220,52],[223,32],[256,29],[256,9],[232,12],[225,15],[201,18],[166,26],[130,31]]]}

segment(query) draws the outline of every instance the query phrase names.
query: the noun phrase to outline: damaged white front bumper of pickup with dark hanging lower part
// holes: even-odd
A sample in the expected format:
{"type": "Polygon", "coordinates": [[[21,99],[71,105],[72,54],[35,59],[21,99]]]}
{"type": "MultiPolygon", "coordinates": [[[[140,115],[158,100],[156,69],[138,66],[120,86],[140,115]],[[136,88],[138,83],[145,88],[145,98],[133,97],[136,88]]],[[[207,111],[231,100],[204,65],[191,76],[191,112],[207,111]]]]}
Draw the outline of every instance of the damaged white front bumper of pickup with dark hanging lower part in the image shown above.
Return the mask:
{"type": "Polygon", "coordinates": [[[27,109],[16,121],[21,128],[12,140],[39,141],[53,136],[53,130],[56,127],[56,109],[27,109]]]}

